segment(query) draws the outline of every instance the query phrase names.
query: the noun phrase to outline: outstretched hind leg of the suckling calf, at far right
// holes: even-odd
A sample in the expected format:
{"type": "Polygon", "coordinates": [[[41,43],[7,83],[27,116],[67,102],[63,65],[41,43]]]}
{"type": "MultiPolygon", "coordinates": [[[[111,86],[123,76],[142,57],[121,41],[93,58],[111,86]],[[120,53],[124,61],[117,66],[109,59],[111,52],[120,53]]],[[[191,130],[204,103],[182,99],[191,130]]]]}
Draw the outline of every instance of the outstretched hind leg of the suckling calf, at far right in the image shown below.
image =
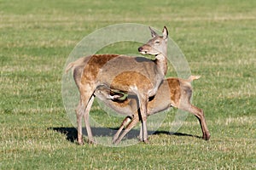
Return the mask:
{"type": "Polygon", "coordinates": [[[195,115],[198,118],[201,125],[201,131],[203,133],[202,139],[205,139],[205,140],[210,139],[211,135],[207,128],[207,122],[206,122],[203,110],[195,107],[194,105],[191,105],[189,101],[185,102],[185,104],[180,105],[179,109],[182,109],[183,111],[189,111],[190,113],[195,115]]]}

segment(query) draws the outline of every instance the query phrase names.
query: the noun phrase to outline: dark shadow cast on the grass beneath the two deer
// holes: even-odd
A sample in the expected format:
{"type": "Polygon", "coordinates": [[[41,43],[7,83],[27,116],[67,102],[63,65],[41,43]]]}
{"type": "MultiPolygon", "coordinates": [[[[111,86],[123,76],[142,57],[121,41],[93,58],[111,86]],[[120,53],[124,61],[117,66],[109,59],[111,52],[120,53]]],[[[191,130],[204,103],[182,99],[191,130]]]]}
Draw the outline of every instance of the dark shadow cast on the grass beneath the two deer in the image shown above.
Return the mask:
{"type": "MultiPolygon", "coordinates": [[[[75,143],[78,139],[78,131],[75,127],[49,127],[48,130],[54,130],[58,133],[63,133],[67,136],[67,140],[75,143]]],[[[95,136],[110,136],[113,135],[118,131],[118,128],[106,128],[106,127],[91,127],[91,131],[95,136]]],[[[83,133],[86,132],[86,129],[83,128],[83,133]]],[[[86,133],[84,133],[86,134],[86,133]]],[[[187,133],[172,133],[168,131],[148,131],[148,135],[159,135],[159,134],[167,134],[167,135],[174,135],[174,136],[187,136],[201,139],[200,136],[187,134],[187,133]]],[[[139,130],[132,129],[128,134],[125,135],[125,139],[134,139],[137,138],[139,135],[139,130]]]]}

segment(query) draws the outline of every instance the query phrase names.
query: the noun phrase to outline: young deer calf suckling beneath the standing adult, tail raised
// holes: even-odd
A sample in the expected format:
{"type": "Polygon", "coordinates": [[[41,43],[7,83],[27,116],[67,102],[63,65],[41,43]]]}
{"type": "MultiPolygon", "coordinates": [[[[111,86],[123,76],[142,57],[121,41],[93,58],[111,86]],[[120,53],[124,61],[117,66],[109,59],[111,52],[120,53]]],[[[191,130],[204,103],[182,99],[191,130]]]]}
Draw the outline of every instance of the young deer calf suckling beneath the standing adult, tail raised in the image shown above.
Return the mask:
{"type": "MultiPolygon", "coordinates": [[[[154,98],[148,101],[148,116],[160,111],[165,111],[170,107],[189,111],[198,118],[201,124],[201,131],[203,133],[202,138],[208,140],[210,139],[210,133],[207,128],[204,113],[200,108],[191,105],[189,102],[192,95],[190,82],[197,78],[199,77],[191,76],[188,80],[184,80],[170,77],[164,80],[164,82],[160,84],[160,88],[154,98]]],[[[125,134],[128,133],[140,120],[137,99],[129,96],[125,99],[120,99],[123,97],[122,94],[113,91],[113,89],[107,88],[106,86],[98,87],[95,95],[114,111],[126,116],[121,127],[119,127],[118,132],[113,137],[113,143],[119,143],[125,134]],[[127,122],[129,122],[129,124],[125,128],[125,131],[119,136],[127,122]]],[[[142,134],[140,133],[140,136],[141,135],[142,134]]]]}

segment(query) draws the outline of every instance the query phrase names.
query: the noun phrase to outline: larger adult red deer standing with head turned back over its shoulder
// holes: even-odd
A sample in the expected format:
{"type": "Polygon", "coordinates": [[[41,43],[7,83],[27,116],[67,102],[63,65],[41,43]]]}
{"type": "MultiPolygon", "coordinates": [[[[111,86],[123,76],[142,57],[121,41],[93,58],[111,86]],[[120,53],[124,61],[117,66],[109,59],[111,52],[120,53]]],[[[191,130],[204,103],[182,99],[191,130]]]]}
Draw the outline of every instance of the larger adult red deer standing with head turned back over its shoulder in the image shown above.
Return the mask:
{"type": "Polygon", "coordinates": [[[155,59],[125,56],[119,54],[95,54],[80,58],[69,65],[66,71],[73,69],[80,101],[76,109],[78,123],[78,143],[83,144],[82,118],[89,143],[94,143],[92,137],[89,112],[98,86],[106,85],[127,94],[137,95],[142,117],[143,141],[148,141],[147,106],[148,98],[154,96],[167,71],[167,37],[166,26],[159,36],[149,27],[152,35],[146,44],[138,48],[141,54],[154,55],[155,59]]]}

